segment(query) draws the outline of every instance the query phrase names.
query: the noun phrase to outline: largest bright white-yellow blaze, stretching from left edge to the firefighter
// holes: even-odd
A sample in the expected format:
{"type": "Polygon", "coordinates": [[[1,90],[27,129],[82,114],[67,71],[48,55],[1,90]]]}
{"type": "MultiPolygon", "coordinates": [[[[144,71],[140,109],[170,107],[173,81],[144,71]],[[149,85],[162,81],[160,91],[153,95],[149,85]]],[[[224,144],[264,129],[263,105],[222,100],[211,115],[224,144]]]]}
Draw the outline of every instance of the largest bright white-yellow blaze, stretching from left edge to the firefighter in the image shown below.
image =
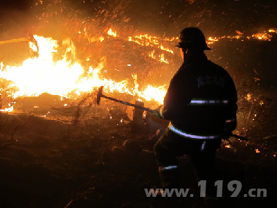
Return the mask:
{"type": "MultiPolygon", "coordinates": [[[[61,60],[53,61],[53,55],[59,50],[57,41],[51,37],[46,38],[37,35],[34,37],[39,46],[37,57],[28,58],[19,66],[1,64],[0,78],[11,81],[12,84],[8,87],[17,89],[12,95],[13,98],[39,96],[44,92],[71,98],[71,96],[80,96],[84,92],[91,92],[95,87],[104,86],[107,92],[127,93],[147,101],[154,100],[159,104],[163,103],[162,94],[166,93],[166,89],[163,87],[148,85],[144,91],[140,92],[139,84],[136,82],[136,74],[132,76],[135,84],[133,89],[127,89],[127,80],[115,82],[102,78],[100,73],[105,64],[105,58],[102,58],[98,66],[89,67],[88,73],[85,73],[78,61],[71,60],[75,58],[75,47],[73,44],[69,44],[69,40],[64,41],[64,44],[66,44],[66,52],[71,51],[73,53],[73,55],[71,53],[71,59],[65,53],[61,60]]],[[[30,49],[37,51],[33,43],[30,43],[30,49]]],[[[9,107],[1,111],[10,112],[12,110],[13,107],[9,107]]]]}

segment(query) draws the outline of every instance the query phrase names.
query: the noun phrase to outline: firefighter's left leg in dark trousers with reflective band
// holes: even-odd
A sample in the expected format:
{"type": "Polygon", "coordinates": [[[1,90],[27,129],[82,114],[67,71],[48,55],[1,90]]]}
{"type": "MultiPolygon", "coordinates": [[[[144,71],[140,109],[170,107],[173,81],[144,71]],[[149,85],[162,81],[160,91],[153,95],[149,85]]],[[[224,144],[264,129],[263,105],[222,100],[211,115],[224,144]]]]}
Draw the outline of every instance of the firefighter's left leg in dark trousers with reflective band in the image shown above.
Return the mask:
{"type": "Polygon", "coordinates": [[[163,189],[176,189],[178,185],[178,162],[175,156],[175,142],[170,130],[166,130],[154,145],[163,189]]]}

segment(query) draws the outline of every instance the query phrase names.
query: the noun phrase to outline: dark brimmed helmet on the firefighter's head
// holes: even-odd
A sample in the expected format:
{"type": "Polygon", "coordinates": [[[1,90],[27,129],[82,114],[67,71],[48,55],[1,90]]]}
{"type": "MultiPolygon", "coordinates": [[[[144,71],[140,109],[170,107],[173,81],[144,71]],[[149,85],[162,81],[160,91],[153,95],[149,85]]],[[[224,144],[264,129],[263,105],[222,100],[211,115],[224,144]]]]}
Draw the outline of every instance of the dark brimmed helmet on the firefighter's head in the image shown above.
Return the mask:
{"type": "Polygon", "coordinates": [[[179,40],[181,42],[178,43],[178,48],[211,50],[207,46],[205,36],[199,28],[184,28],[181,31],[179,40]]]}

